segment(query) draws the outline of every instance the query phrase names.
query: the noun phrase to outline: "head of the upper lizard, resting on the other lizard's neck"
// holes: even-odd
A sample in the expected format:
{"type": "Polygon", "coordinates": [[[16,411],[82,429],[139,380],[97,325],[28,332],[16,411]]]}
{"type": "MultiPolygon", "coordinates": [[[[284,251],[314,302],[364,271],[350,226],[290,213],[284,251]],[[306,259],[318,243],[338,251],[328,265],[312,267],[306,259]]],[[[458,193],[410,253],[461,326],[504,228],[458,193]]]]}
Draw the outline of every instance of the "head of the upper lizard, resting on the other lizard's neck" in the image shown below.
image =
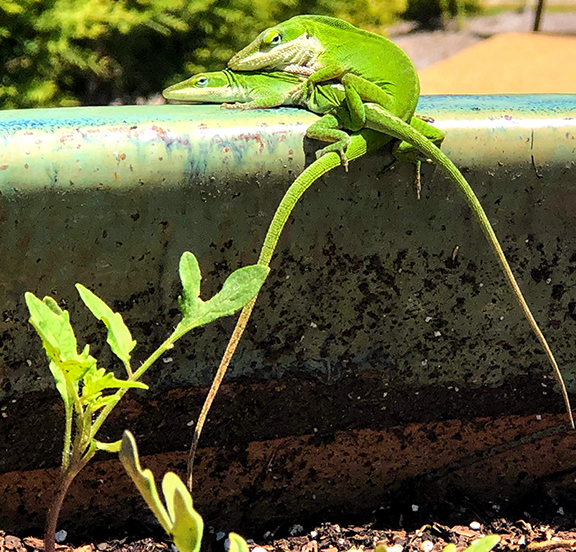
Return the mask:
{"type": "Polygon", "coordinates": [[[235,71],[263,69],[311,75],[317,70],[314,63],[323,51],[306,22],[294,17],[261,32],[228,62],[228,67],[235,71]]]}

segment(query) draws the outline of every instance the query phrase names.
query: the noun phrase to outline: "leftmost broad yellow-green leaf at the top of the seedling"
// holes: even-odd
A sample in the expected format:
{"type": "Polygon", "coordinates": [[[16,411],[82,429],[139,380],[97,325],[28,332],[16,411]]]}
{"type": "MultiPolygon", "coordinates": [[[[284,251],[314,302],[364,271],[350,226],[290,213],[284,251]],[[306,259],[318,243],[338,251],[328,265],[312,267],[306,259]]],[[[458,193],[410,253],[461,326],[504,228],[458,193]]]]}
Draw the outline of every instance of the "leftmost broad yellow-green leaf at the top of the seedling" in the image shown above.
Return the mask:
{"type": "Polygon", "coordinates": [[[30,323],[42,339],[42,346],[48,357],[61,370],[67,372],[72,382],[82,379],[96,364],[96,359],[89,355],[88,346],[78,354],[76,336],[68,312],[62,310],[51,297],[40,301],[33,293],[27,292],[25,299],[30,312],[30,323]]]}

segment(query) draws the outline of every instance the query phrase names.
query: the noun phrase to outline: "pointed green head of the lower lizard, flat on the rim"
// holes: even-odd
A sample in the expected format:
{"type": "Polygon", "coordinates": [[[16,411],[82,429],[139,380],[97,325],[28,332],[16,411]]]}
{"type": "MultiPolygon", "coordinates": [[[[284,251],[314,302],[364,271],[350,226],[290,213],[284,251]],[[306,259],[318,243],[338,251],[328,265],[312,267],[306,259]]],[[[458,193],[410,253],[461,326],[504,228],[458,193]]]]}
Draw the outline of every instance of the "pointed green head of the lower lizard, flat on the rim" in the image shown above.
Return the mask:
{"type": "Polygon", "coordinates": [[[198,73],[162,91],[167,100],[182,102],[222,103],[236,101],[234,79],[228,71],[198,73]]]}

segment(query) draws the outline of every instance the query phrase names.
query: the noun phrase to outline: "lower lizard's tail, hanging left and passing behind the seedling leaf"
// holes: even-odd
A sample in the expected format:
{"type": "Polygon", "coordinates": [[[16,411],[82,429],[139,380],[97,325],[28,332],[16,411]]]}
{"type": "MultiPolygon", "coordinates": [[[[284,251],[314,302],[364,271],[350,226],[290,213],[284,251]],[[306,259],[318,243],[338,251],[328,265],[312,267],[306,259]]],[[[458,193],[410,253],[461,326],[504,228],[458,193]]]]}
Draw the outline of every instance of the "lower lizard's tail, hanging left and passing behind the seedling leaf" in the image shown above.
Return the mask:
{"type": "MultiPolygon", "coordinates": [[[[346,150],[346,155],[349,160],[356,159],[357,157],[361,157],[366,152],[379,148],[382,144],[388,141],[388,137],[383,135],[379,132],[374,132],[371,130],[364,129],[358,134],[354,134],[352,136],[352,140],[348,149],[346,150]]],[[[276,249],[276,245],[278,244],[278,239],[280,238],[280,234],[284,229],[284,225],[294,209],[294,206],[298,202],[298,200],[302,197],[302,194],[314,183],[318,180],[322,175],[326,174],[328,171],[334,169],[341,165],[340,156],[337,153],[329,153],[323,155],[320,159],[316,160],[312,165],[307,167],[296,180],[292,183],[290,188],[284,194],[280,205],[276,209],[276,213],[274,214],[274,218],[270,223],[268,228],[268,232],[266,234],[266,238],[264,239],[264,244],[262,245],[262,250],[260,252],[260,257],[258,259],[258,264],[269,266],[270,260],[272,259],[272,255],[276,249]]],[[[214,380],[212,381],[212,385],[210,390],[208,391],[208,395],[206,396],[206,400],[204,401],[204,405],[202,406],[202,410],[200,411],[200,416],[198,417],[198,422],[196,423],[196,427],[194,428],[194,436],[192,438],[192,445],[190,446],[190,453],[188,455],[188,489],[192,492],[192,472],[194,467],[194,456],[196,454],[196,449],[198,448],[198,441],[200,439],[200,434],[202,433],[202,428],[204,427],[204,423],[206,422],[206,417],[208,416],[208,411],[212,406],[212,402],[214,401],[214,397],[218,392],[220,384],[222,383],[222,379],[226,374],[226,370],[228,369],[228,365],[232,360],[232,356],[236,351],[236,347],[238,346],[238,342],[244,333],[244,329],[246,328],[246,324],[250,319],[250,315],[252,313],[252,309],[254,308],[254,304],[256,303],[256,298],[254,297],[250,303],[248,303],[240,313],[240,317],[236,322],[236,326],[234,327],[234,332],[228,341],[228,345],[222,356],[222,360],[220,361],[220,366],[218,367],[218,371],[214,376],[214,380]]]]}

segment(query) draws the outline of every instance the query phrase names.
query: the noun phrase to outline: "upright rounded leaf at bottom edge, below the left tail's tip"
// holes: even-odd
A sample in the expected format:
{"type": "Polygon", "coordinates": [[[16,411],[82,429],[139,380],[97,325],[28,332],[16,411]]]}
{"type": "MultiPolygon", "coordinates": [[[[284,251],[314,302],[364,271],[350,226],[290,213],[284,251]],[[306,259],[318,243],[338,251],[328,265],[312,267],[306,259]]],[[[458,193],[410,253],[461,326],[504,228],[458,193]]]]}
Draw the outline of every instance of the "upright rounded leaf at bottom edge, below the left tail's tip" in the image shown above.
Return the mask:
{"type": "Polygon", "coordinates": [[[170,534],[180,552],[198,552],[202,542],[204,522],[192,506],[192,497],[182,480],[168,472],[162,480],[162,491],[172,518],[170,534]]]}

